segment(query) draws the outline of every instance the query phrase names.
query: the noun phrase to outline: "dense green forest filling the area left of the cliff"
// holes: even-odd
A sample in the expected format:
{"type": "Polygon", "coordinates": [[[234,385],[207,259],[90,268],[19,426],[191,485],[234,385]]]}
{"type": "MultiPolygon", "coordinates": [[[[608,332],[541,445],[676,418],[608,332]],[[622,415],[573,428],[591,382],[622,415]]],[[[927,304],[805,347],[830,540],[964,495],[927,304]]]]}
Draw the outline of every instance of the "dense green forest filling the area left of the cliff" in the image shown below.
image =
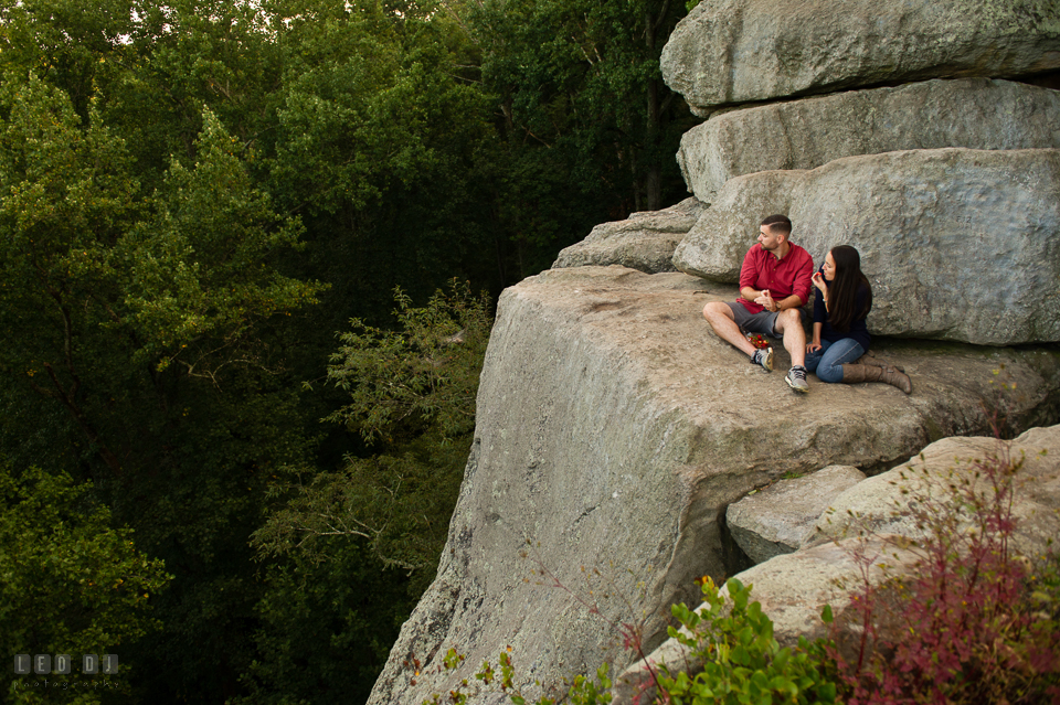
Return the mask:
{"type": "Polygon", "coordinates": [[[116,650],[104,702],[365,697],[437,564],[486,301],[682,195],[683,11],[0,0],[10,651],[116,650]]]}

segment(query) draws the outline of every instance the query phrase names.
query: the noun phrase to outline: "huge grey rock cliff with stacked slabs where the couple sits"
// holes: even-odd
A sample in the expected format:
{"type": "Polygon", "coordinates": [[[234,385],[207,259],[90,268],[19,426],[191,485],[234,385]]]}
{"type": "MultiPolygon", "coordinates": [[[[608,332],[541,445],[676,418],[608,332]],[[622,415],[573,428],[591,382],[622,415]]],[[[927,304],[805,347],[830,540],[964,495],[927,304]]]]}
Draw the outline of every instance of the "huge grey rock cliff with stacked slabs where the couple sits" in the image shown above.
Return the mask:
{"type": "MultiPolygon", "coordinates": [[[[724,515],[755,488],[835,464],[871,476],[998,409],[1009,432],[1056,423],[1058,70],[1054,0],[700,2],[662,60],[709,116],[679,154],[696,201],[601,226],[505,291],[438,576],[370,703],[476,683],[509,649],[523,682],[626,665],[622,624],[654,648],[695,577],[746,566],[724,515]],[[703,305],[735,298],[775,212],[818,264],[861,250],[870,330],[902,337],[873,350],[911,396],[814,377],[795,396],[710,332],[703,305]],[[1014,384],[992,384],[999,370],[1014,384]]],[[[756,580],[783,590],[765,566],[812,565],[831,595],[840,554],[778,556],[756,580]]]]}

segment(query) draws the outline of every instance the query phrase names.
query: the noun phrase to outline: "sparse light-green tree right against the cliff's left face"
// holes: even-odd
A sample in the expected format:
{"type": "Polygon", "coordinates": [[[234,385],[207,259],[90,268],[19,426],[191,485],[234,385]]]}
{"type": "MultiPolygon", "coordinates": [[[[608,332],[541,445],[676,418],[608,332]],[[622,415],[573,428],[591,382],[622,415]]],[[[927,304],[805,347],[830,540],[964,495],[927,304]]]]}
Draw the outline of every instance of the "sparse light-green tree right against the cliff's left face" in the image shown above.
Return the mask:
{"type": "Polygon", "coordinates": [[[264,555],[314,553],[321,540],[354,536],[375,556],[422,577],[445,544],[475,430],[475,396],[489,340],[488,301],[467,285],[414,308],[395,292],[401,329],[352,321],[328,378],[349,404],[325,420],[359,432],[379,452],[350,456],[341,472],[277,484],[287,505],[255,533],[264,555]]]}

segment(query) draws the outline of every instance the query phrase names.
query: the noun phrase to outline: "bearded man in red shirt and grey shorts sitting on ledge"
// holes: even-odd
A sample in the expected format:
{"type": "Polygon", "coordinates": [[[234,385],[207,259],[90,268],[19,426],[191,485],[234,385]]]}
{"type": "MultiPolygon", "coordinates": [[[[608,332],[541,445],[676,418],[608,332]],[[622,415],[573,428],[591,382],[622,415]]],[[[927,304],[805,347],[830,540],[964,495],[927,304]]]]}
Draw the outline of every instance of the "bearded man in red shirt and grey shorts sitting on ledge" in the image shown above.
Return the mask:
{"type": "Polygon", "coordinates": [[[703,318],[722,340],[751,356],[752,364],[773,370],[773,349],[756,350],[746,335],[761,333],[784,339],[792,354],[792,368],[784,380],[796,392],[809,391],[806,384],[806,331],[802,307],[809,300],[814,258],[788,242],[792,222],[785,215],[771,215],[759,227],[759,243],[752,245],[740,269],[740,293],[733,303],[711,301],[703,318]]]}

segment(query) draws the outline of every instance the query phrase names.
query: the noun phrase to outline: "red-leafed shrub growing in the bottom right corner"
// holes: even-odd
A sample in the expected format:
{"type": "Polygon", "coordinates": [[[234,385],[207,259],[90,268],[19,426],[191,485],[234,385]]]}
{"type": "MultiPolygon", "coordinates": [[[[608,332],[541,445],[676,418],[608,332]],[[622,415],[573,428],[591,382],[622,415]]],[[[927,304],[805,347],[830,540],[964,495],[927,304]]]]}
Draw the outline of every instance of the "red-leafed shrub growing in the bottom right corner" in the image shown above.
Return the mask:
{"type": "MultiPolygon", "coordinates": [[[[1060,703],[1057,556],[1019,555],[1009,446],[914,492],[918,568],[854,598],[857,659],[833,655],[849,705],[1060,703]]],[[[903,479],[905,476],[903,474],[903,479]]]]}

